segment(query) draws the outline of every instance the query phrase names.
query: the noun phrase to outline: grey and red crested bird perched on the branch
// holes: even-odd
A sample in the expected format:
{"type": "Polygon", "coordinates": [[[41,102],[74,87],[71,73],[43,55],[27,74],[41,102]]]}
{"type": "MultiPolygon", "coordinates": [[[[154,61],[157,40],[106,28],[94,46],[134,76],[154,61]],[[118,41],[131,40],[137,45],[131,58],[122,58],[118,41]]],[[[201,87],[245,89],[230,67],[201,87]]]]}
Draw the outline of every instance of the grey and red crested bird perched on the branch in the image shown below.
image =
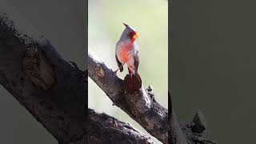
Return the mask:
{"type": "MultiPolygon", "coordinates": [[[[126,28],[115,46],[115,59],[120,72],[123,71],[123,66],[127,64],[128,72],[132,78],[133,74],[138,74],[139,51],[135,42],[138,39],[138,31],[125,22],[123,25],[126,28]]],[[[117,74],[118,70],[115,70],[114,74],[117,74]]]]}

